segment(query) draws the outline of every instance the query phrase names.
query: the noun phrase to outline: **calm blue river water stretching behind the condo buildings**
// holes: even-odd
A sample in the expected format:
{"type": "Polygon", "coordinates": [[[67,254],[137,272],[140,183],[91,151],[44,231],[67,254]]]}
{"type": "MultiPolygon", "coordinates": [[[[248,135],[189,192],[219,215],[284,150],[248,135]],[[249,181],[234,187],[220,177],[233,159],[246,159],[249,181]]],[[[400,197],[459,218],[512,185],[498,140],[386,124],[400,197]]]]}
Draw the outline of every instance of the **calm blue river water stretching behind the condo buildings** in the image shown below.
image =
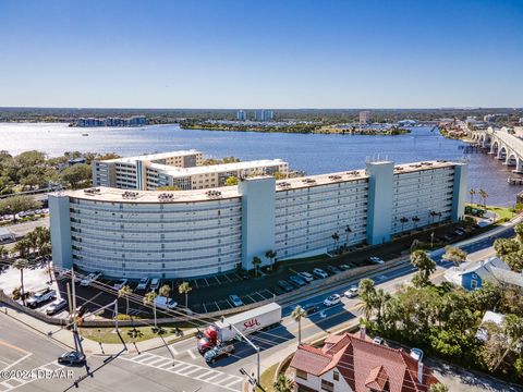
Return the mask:
{"type": "Polygon", "coordinates": [[[75,128],[66,124],[0,124],[0,149],[11,154],[37,149],[50,156],[73,150],[133,156],[196,148],[215,158],[282,158],[292,169],[308,174],[361,169],[367,158],[378,155],[398,163],[467,159],[469,186],[487,191],[489,204],[514,204],[522,187],[507,184],[507,177],[513,175],[510,170],[484,154],[464,156],[460,148],[463,145],[426,127],[413,128],[409,135],[350,136],[196,131],[180,130],[178,125],[75,128]],[[89,136],[82,136],[84,133],[89,136]]]}

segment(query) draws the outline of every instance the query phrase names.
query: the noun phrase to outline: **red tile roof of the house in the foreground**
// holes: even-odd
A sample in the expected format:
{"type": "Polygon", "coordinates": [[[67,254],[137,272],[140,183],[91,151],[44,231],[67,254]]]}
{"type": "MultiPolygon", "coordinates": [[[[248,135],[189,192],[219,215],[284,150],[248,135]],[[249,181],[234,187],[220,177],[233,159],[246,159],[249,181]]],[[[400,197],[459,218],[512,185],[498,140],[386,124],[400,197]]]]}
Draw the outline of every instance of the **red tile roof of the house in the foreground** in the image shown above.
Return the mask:
{"type": "Polygon", "coordinates": [[[381,391],[388,382],[390,392],[426,392],[438,382],[428,367],[423,383],[417,380],[417,360],[402,350],[389,348],[350,334],[330,335],[323,348],[301,345],[291,367],[314,376],[337,368],[355,392],[381,391]]]}

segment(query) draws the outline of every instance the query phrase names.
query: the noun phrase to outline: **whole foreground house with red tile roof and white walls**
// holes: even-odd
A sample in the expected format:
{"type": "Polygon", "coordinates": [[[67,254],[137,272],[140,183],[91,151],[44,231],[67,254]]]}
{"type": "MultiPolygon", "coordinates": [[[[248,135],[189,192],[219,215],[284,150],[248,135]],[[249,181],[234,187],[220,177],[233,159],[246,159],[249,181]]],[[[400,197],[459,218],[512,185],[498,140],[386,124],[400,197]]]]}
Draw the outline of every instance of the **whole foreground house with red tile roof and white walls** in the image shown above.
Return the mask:
{"type": "Polygon", "coordinates": [[[290,367],[296,392],[427,392],[431,370],[403,350],[350,335],[330,335],[321,348],[302,344],[290,367]]]}

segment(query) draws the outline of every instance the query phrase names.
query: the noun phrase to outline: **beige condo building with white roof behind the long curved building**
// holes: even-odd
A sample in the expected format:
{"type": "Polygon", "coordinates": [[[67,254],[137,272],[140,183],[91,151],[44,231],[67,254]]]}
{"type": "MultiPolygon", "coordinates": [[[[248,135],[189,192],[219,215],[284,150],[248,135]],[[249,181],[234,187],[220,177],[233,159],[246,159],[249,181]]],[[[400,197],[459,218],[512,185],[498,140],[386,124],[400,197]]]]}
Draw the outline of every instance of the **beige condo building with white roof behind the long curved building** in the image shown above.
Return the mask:
{"type": "Polygon", "coordinates": [[[93,162],[93,184],[122,189],[205,189],[223,186],[230,176],[238,179],[262,174],[287,174],[289,164],[281,159],[202,166],[197,150],[154,154],[93,162]]]}

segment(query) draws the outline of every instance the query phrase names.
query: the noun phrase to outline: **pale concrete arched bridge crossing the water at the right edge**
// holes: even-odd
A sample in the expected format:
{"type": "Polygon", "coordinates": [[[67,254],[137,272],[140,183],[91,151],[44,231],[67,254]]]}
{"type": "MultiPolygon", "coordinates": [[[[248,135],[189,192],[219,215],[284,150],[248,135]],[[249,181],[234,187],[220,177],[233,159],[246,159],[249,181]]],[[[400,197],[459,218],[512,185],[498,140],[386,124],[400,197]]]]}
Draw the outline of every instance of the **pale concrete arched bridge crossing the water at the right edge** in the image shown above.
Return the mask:
{"type": "Polygon", "coordinates": [[[488,149],[488,154],[503,161],[503,164],[513,167],[515,173],[523,173],[523,139],[515,136],[513,131],[501,130],[469,131],[469,136],[476,145],[488,149]]]}

